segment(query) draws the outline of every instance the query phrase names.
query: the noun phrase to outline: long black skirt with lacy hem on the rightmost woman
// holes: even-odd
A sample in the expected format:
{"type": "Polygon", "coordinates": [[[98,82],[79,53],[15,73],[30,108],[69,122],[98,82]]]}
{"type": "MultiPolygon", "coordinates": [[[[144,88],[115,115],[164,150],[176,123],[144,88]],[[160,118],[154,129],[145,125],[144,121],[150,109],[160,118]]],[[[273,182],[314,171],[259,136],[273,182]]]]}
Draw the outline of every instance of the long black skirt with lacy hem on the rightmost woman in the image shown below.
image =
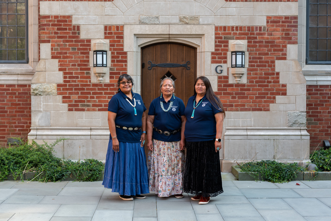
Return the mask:
{"type": "Polygon", "coordinates": [[[219,153],[214,140],[186,142],[186,164],[183,177],[185,193],[217,196],[223,193],[219,153]]]}

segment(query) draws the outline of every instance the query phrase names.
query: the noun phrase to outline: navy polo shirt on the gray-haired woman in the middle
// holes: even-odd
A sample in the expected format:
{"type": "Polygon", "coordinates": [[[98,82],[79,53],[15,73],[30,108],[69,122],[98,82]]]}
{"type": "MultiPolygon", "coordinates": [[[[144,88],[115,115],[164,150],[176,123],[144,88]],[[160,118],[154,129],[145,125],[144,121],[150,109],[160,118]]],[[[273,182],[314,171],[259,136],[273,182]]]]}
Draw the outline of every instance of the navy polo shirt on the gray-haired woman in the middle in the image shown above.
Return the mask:
{"type": "MultiPolygon", "coordinates": [[[[171,96],[168,102],[162,97],[155,98],[151,105],[149,106],[148,115],[154,115],[154,123],[153,126],[161,131],[173,132],[174,130],[178,130],[182,126],[181,116],[184,115],[185,105],[182,99],[175,96],[171,96]],[[173,101],[171,108],[165,112],[161,107],[161,103],[163,103],[163,107],[165,110],[168,109],[170,102],[173,101]]],[[[179,141],[180,131],[176,134],[170,134],[166,136],[164,134],[159,134],[157,131],[153,129],[152,137],[161,141],[179,141]]]]}

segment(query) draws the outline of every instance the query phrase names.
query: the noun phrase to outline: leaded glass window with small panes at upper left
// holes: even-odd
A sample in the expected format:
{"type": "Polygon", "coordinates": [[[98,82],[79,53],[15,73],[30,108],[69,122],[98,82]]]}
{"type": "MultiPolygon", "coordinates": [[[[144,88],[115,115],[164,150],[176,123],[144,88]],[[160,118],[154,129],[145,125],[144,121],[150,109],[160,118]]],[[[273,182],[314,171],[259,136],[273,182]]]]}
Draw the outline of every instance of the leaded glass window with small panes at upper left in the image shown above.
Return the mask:
{"type": "Polygon", "coordinates": [[[0,0],[0,63],[27,63],[27,1],[0,0]]]}

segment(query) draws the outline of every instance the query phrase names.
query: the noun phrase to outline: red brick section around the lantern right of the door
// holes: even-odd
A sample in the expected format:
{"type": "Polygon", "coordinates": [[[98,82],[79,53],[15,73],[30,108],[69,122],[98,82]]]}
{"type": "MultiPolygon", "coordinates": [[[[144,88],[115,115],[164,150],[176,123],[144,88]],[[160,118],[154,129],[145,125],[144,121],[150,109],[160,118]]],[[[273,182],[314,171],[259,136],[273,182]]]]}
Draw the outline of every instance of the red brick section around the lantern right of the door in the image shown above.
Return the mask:
{"type": "MultiPolygon", "coordinates": [[[[227,63],[230,39],[247,40],[249,67],[247,84],[228,83],[218,77],[218,92],[228,111],[269,111],[277,95],[286,95],[286,84],[279,83],[275,61],[286,60],[287,44],[297,44],[297,16],[267,16],[266,26],[216,26],[212,63],[227,63]]],[[[231,73],[229,73],[231,74],[231,73]]]]}

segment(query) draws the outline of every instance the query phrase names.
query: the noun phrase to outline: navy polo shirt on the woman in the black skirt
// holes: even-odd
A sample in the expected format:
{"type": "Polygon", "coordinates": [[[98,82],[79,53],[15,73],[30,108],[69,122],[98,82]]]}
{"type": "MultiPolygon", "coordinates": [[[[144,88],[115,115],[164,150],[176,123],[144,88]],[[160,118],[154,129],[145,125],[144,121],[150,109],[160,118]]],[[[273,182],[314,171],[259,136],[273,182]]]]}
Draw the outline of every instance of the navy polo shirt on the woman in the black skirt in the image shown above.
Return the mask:
{"type": "MultiPolygon", "coordinates": [[[[185,139],[190,142],[214,140],[216,137],[216,120],[214,115],[223,111],[220,108],[215,108],[205,95],[199,106],[195,108],[194,118],[191,118],[193,101],[196,96],[194,95],[188,99],[185,108],[185,116],[187,118],[184,133],[185,139]]],[[[195,102],[196,105],[197,102],[195,102]]]]}

